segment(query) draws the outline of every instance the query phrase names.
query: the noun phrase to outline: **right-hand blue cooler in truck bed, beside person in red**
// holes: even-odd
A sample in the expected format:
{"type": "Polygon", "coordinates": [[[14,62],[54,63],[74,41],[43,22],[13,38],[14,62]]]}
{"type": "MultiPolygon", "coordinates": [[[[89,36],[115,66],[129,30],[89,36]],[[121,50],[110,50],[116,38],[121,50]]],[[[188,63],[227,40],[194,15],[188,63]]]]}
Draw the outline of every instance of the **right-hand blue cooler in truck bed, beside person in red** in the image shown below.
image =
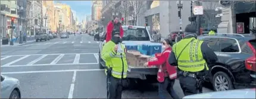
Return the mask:
{"type": "Polygon", "coordinates": [[[162,44],[160,43],[145,43],[142,44],[142,50],[148,50],[146,55],[152,56],[155,53],[162,52],[162,44]]]}

